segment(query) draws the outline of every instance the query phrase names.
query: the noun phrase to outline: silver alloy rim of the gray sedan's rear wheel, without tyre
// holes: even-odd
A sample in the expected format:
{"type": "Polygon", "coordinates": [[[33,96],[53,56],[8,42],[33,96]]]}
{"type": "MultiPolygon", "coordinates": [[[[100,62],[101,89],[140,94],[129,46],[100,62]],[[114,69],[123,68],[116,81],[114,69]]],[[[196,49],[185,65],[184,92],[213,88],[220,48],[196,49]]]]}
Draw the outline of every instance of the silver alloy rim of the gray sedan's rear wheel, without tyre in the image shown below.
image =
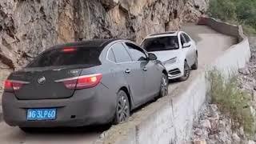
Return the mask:
{"type": "Polygon", "coordinates": [[[128,102],[122,94],[122,96],[118,100],[118,118],[120,122],[126,121],[126,119],[129,117],[129,106],[128,102]]]}

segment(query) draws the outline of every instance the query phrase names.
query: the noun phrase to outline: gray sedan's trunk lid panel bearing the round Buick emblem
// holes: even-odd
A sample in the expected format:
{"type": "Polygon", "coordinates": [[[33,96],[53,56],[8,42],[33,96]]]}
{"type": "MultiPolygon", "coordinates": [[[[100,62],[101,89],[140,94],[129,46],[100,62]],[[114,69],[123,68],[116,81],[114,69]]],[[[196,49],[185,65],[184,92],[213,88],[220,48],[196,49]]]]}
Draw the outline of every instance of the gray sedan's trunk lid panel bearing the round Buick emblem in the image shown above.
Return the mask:
{"type": "Polygon", "coordinates": [[[30,69],[11,74],[10,79],[29,82],[20,90],[14,90],[18,99],[53,99],[70,98],[74,90],[67,89],[62,82],[55,82],[62,78],[72,78],[80,75],[82,69],[30,69]]]}

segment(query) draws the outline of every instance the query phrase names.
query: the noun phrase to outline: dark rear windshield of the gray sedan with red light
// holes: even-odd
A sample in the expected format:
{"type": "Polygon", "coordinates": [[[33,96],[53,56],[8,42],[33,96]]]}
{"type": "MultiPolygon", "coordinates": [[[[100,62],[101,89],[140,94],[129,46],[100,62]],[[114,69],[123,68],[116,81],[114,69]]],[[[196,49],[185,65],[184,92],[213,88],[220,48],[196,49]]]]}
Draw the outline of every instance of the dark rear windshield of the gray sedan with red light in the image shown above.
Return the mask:
{"type": "Polygon", "coordinates": [[[95,47],[72,47],[46,50],[26,67],[70,66],[101,64],[98,57],[102,50],[95,47]]]}

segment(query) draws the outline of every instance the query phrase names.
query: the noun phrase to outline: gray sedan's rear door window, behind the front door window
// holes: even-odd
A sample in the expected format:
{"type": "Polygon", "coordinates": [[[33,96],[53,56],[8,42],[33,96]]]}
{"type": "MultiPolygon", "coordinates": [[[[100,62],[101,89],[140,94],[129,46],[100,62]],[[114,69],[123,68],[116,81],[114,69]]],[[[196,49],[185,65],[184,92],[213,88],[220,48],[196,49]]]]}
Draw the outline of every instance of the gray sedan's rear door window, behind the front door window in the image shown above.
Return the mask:
{"type": "Polygon", "coordinates": [[[114,44],[114,46],[112,46],[112,50],[114,52],[114,58],[117,63],[132,62],[130,54],[128,54],[126,48],[122,45],[122,43],[114,44]]]}

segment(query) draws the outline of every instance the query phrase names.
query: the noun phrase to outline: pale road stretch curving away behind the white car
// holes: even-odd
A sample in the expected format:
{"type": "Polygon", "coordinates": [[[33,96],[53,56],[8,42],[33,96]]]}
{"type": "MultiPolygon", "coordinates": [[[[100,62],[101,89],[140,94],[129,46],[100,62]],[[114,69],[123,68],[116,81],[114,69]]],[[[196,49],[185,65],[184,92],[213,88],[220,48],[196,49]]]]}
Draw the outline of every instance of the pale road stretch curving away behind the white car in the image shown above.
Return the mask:
{"type": "Polygon", "coordinates": [[[199,67],[213,62],[215,58],[230,48],[236,38],[219,34],[208,26],[187,24],[182,30],[186,31],[197,42],[199,67]]]}

